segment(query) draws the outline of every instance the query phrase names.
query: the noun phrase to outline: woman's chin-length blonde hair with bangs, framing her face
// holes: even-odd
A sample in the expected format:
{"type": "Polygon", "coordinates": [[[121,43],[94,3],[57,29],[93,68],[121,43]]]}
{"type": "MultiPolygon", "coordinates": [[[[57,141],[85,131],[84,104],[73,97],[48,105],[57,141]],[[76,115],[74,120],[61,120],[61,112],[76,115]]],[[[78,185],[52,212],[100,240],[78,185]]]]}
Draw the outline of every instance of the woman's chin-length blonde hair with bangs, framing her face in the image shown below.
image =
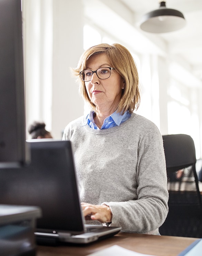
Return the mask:
{"type": "Polygon", "coordinates": [[[90,101],[85,82],[81,79],[79,72],[86,69],[87,60],[94,54],[106,54],[112,67],[125,81],[125,88],[116,111],[123,114],[125,111],[132,113],[140,105],[140,88],[137,67],[131,53],[120,44],[99,44],[90,47],[80,57],[77,67],[71,69],[78,76],[80,93],[84,100],[89,103],[91,109],[96,112],[95,105],[90,101]]]}

